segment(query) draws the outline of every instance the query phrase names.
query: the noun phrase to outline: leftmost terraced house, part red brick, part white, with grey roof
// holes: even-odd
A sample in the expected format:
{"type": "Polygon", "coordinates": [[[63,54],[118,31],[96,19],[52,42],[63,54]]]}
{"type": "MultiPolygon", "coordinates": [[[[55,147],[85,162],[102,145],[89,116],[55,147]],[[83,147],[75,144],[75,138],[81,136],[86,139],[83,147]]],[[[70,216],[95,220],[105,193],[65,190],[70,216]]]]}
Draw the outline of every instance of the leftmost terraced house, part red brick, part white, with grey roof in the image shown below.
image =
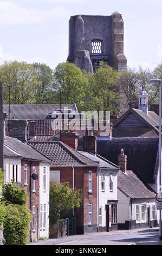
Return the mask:
{"type": "Polygon", "coordinates": [[[12,179],[27,191],[32,220],[30,241],[49,233],[49,162],[30,145],[16,138],[4,139],[4,182],[12,179]]]}

